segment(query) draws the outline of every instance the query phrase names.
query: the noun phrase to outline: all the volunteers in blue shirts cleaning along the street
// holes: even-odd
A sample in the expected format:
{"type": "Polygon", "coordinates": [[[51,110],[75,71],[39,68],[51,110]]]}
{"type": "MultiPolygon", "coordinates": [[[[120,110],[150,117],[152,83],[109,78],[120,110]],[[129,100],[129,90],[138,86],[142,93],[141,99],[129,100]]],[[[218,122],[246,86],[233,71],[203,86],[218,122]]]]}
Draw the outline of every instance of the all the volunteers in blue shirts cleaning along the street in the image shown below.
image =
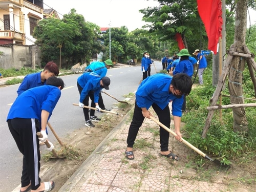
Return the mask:
{"type": "MultiPolygon", "coordinates": [[[[199,75],[203,74],[203,69],[207,63],[199,50],[194,55],[199,60],[199,75]],[[200,63],[204,63],[202,68],[200,63]]],[[[170,68],[169,74],[155,74],[151,76],[151,65],[154,62],[148,52],[143,53],[141,70],[143,80],[136,92],[136,101],[133,119],[127,136],[127,148],[125,157],[134,159],[133,145],[139,128],[144,118],[150,118],[152,113],[149,111],[152,106],[159,121],[165,126],[170,127],[170,110],[168,104],[172,102],[172,115],[175,125],[176,139],[181,140],[180,123],[182,111],[185,111],[185,97],[191,91],[191,76],[194,72],[195,61],[191,60],[191,55],[186,49],[182,49],[174,55],[173,61],[164,60],[164,69],[167,69],[167,62],[170,68]],[[180,57],[180,58],[178,58],[180,57]],[[176,61],[177,60],[177,61],[176,61]],[[172,62],[172,63],[170,63],[172,62]]],[[[95,126],[92,121],[99,121],[95,116],[95,110],[88,110],[84,106],[89,106],[97,111],[105,110],[102,95],[103,89],[109,90],[110,78],[106,76],[108,69],[113,66],[111,59],[105,61],[94,61],[77,79],[77,88],[80,94],[79,107],[82,108],[86,126],[95,126]],[[90,114],[89,114],[90,113],[90,114]]],[[[58,78],[59,70],[56,63],[50,61],[44,70],[38,73],[27,75],[17,90],[17,98],[13,102],[7,116],[9,130],[14,138],[18,150],[23,154],[23,170],[21,177],[20,192],[29,191],[50,191],[54,188],[53,181],[42,182],[39,178],[40,172],[40,151],[39,141],[46,142],[48,139],[47,123],[60,98],[61,91],[65,84],[58,78]],[[42,137],[36,134],[40,132],[42,137]]],[[[202,76],[200,83],[203,83],[202,76]]],[[[179,157],[168,150],[169,132],[162,127],[160,132],[160,154],[164,157],[179,160],[179,157]]],[[[53,144],[49,142],[52,151],[53,144]]]]}

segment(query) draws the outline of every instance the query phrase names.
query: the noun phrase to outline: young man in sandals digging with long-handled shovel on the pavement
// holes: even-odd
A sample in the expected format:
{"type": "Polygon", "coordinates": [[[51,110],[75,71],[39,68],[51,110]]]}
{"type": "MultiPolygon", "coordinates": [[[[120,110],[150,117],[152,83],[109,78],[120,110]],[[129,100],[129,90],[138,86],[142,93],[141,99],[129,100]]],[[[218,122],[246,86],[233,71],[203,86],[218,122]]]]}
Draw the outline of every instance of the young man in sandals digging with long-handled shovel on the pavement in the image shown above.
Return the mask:
{"type": "MultiPolygon", "coordinates": [[[[129,128],[127,137],[127,148],[125,157],[134,159],[133,145],[137,137],[140,126],[144,118],[153,116],[148,109],[152,106],[159,121],[165,126],[170,127],[169,102],[172,101],[176,139],[181,139],[180,122],[183,95],[189,94],[192,87],[191,78],[185,73],[179,73],[173,77],[166,74],[155,74],[143,80],[136,92],[136,101],[133,120],[129,128]]],[[[160,148],[161,155],[170,159],[179,160],[178,156],[169,152],[169,132],[160,126],[160,148]]]]}

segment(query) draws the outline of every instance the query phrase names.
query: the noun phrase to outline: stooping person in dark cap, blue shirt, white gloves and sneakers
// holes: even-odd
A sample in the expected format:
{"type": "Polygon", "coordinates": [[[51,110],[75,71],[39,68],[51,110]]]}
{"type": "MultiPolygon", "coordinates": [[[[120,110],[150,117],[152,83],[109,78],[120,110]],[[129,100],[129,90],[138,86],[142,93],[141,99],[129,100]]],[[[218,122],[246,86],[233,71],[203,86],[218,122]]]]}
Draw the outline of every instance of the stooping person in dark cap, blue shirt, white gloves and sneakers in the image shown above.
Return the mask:
{"type": "Polygon", "coordinates": [[[95,126],[92,121],[100,121],[100,119],[95,116],[95,111],[90,111],[90,117],[88,108],[83,108],[84,105],[89,106],[89,97],[92,101],[91,106],[96,108],[97,111],[100,111],[98,104],[99,93],[101,89],[109,90],[110,78],[101,77],[97,73],[83,73],[77,79],[77,88],[80,94],[79,107],[83,109],[84,119],[86,126],[95,126]]]}

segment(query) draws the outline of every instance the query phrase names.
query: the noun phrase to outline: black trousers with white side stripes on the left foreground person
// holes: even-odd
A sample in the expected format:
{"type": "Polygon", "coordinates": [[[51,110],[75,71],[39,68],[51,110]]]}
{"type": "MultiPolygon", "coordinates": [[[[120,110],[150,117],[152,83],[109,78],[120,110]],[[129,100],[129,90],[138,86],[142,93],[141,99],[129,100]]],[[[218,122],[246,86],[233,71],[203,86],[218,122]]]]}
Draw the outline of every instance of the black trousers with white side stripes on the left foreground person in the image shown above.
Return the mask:
{"type": "Polygon", "coordinates": [[[23,118],[9,119],[7,123],[19,152],[23,154],[22,187],[31,182],[32,190],[36,190],[40,186],[40,151],[36,133],[40,132],[41,123],[38,119],[23,118]]]}

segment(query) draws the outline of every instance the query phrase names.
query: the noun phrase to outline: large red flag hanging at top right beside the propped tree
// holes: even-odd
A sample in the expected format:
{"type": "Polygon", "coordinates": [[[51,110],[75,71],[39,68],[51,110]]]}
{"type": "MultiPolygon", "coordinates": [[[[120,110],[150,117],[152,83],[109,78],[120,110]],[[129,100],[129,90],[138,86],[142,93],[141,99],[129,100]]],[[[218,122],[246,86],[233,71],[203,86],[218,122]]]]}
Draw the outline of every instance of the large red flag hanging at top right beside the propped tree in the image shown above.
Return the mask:
{"type": "Polygon", "coordinates": [[[208,36],[208,49],[216,54],[223,24],[221,0],[197,0],[197,6],[208,36]]]}

